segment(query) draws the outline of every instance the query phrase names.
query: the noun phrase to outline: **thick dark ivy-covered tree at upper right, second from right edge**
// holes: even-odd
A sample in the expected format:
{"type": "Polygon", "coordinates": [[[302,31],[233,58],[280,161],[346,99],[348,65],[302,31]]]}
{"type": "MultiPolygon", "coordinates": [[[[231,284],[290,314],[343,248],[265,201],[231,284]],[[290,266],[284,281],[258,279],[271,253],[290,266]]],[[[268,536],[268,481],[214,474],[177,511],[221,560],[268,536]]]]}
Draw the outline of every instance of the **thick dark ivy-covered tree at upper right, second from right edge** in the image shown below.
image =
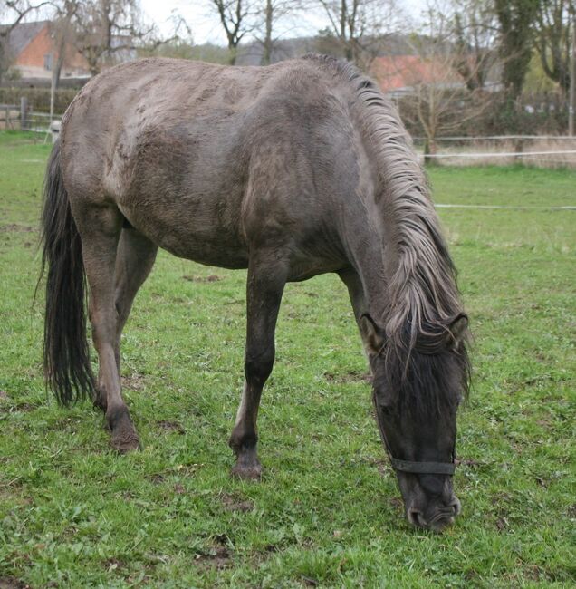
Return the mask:
{"type": "Polygon", "coordinates": [[[533,24],[540,0],[494,0],[499,23],[502,82],[515,100],[522,93],[533,53],[533,24]]]}

